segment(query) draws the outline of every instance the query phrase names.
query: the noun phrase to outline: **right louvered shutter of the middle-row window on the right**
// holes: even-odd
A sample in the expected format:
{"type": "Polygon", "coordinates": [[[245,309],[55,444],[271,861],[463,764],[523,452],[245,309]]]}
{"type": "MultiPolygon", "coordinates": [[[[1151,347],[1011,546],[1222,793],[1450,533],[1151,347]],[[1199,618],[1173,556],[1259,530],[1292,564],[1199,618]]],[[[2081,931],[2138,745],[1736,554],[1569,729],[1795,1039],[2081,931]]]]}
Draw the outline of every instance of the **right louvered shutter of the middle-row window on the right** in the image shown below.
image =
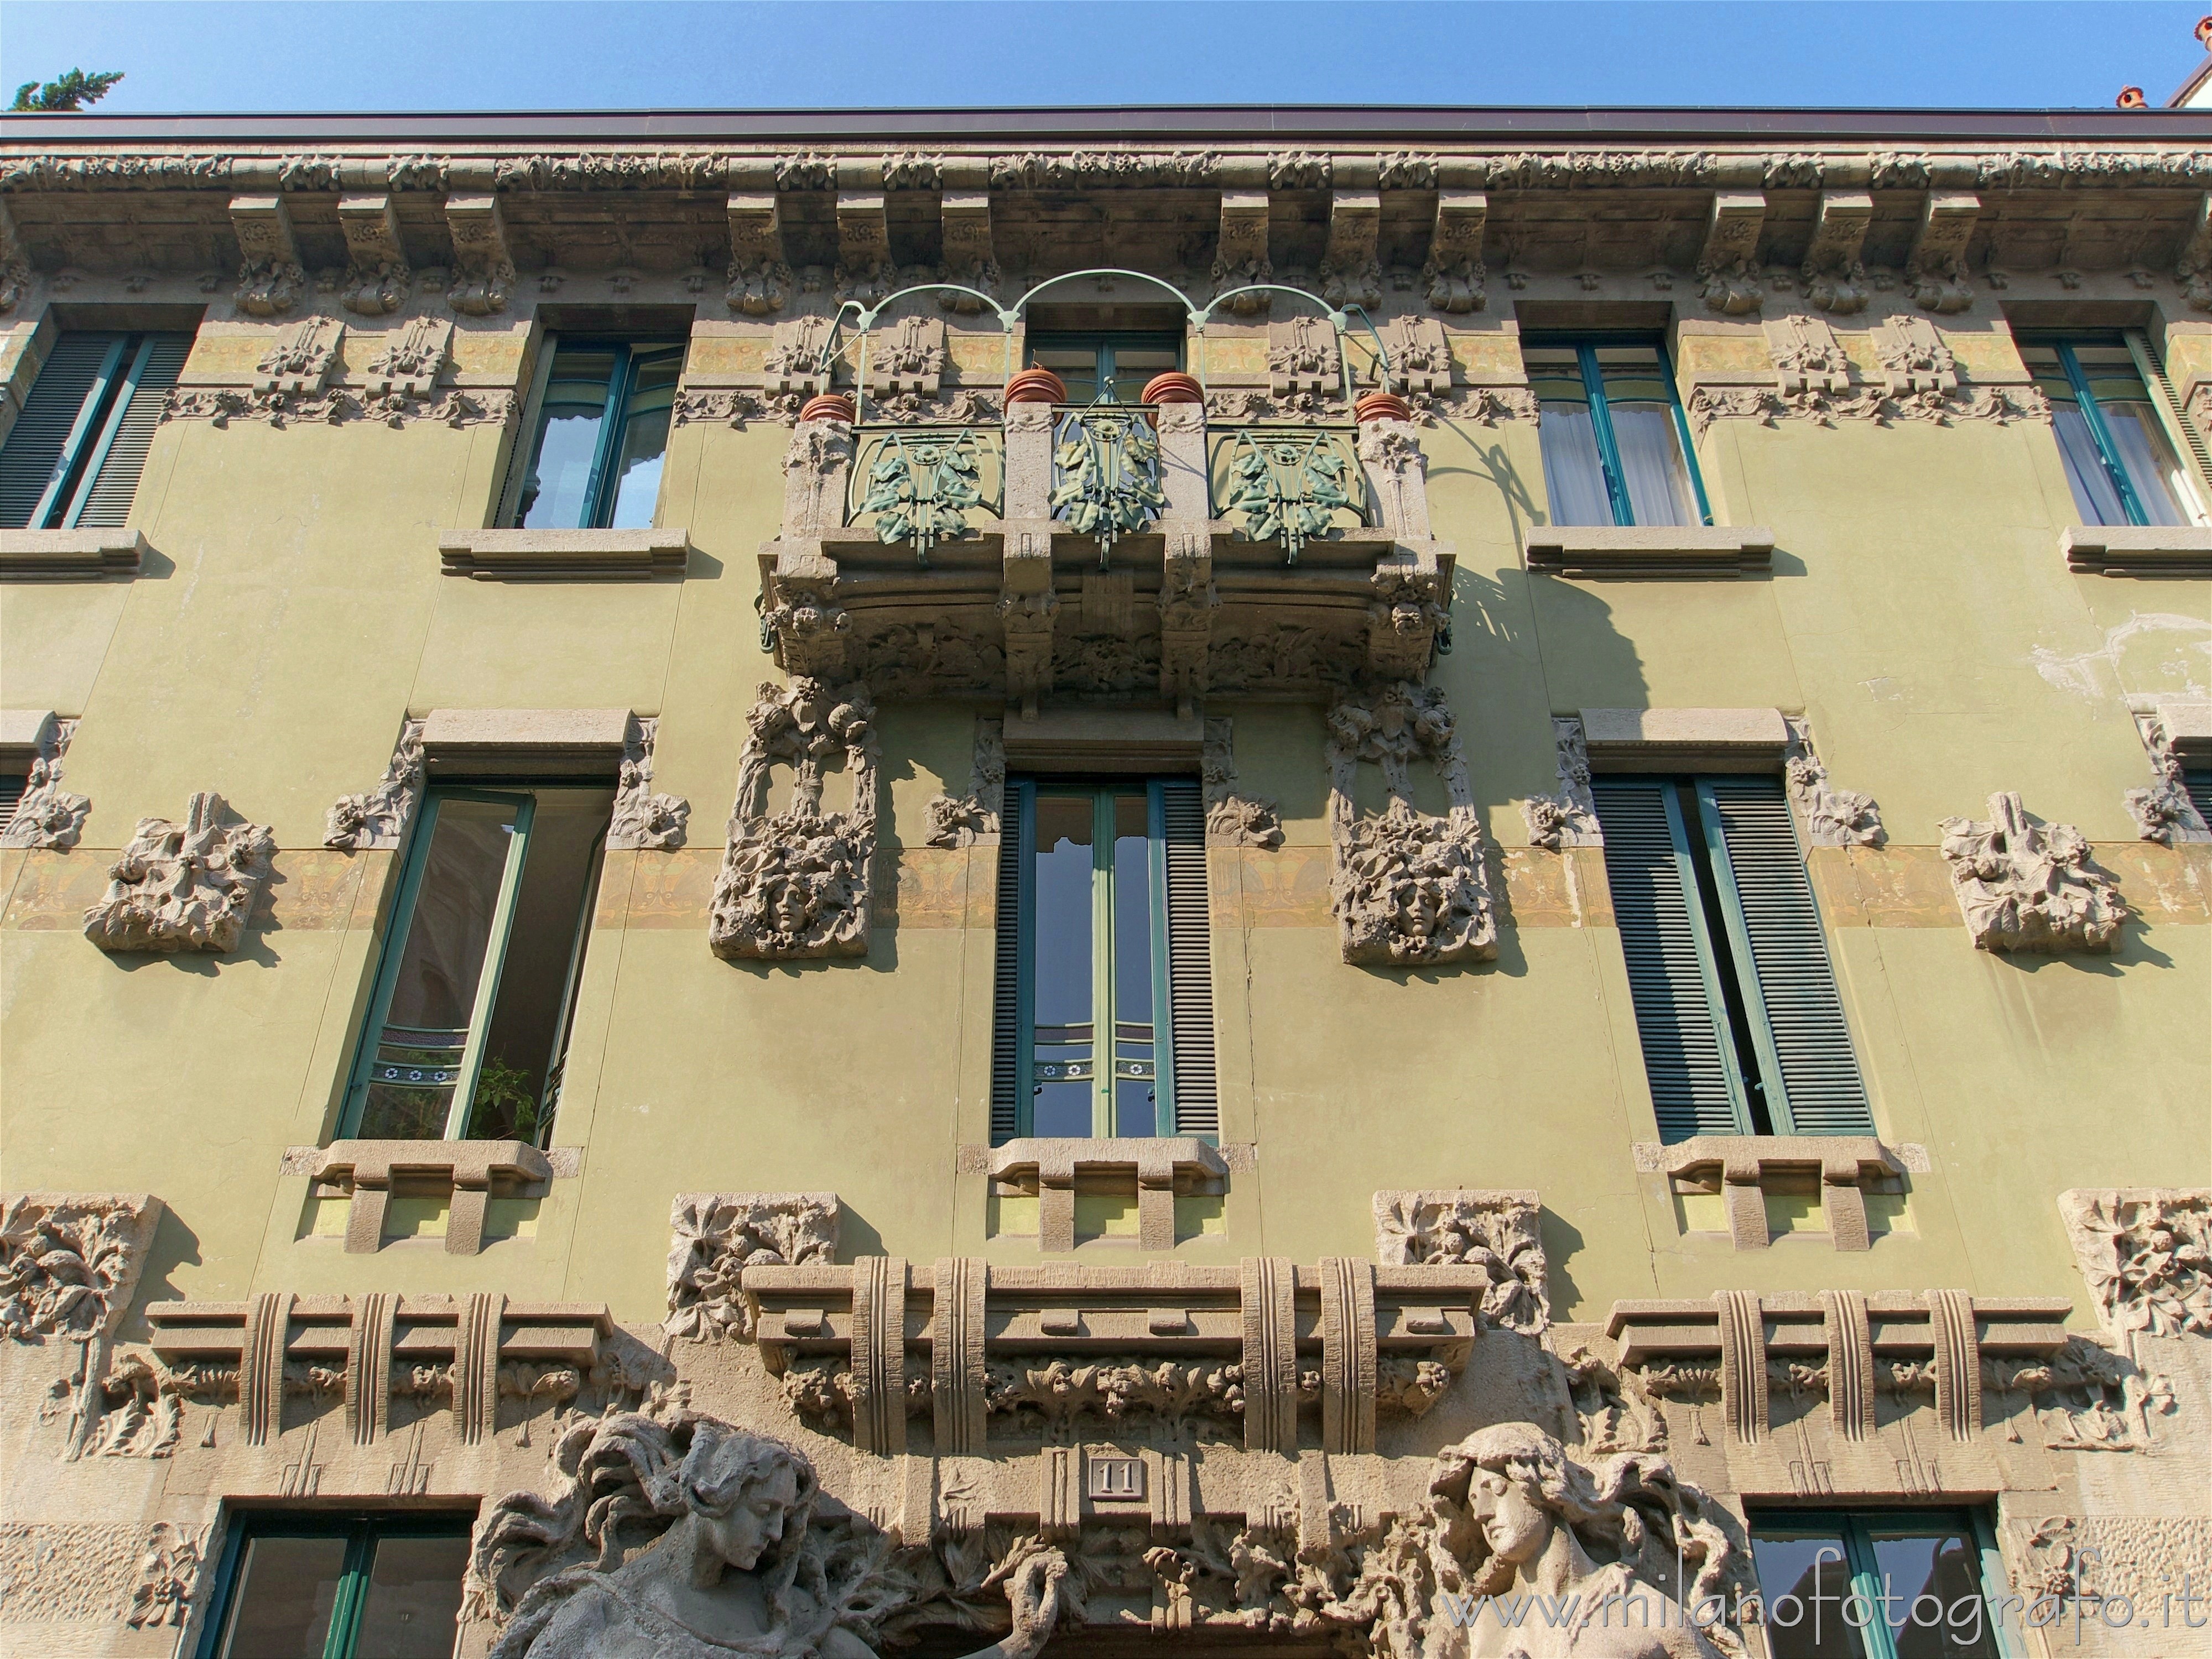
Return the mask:
{"type": "Polygon", "coordinates": [[[1781,779],[1699,779],[1712,874],[1776,1135],[1871,1135],[1851,1029],[1781,779]]]}

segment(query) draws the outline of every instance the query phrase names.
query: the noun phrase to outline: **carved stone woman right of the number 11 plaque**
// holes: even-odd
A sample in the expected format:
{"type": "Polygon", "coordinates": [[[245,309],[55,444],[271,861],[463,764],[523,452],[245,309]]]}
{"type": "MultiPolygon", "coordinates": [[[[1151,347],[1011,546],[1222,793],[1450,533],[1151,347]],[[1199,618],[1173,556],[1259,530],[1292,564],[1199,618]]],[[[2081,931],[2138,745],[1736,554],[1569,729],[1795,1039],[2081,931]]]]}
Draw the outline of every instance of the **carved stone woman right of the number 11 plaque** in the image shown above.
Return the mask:
{"type": "Polygon", "coordinates": [[[1736,1648],[1723,1615],[1734,1610],[1725,1593],[1743,1588],[1741,1551],[1663,1458],[1586,1467],[1533,1422],[1495,1422],[1438,1453],[1429,1517],[1442,1593],[1573,1608],[1546,1628],[1509,1630],[1493,1613],[1471,1626],[1433,1619],[1431,1646],[1442,1646],[1431,1659],[1721,1659],[1736,1648]]]}

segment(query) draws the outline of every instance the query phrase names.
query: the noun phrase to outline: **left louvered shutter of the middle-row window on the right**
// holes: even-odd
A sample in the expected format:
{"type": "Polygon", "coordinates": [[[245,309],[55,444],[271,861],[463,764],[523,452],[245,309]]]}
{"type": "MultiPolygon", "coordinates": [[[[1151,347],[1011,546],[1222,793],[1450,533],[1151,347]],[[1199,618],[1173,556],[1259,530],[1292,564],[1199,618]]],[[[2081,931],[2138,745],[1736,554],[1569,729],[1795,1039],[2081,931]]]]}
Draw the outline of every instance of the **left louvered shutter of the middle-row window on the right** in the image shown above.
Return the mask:
{"type": "Polygon", "coordinates": [[[1674,787],[1597,779],[1590,794],[1606,834],[1606,883],[1628,958],[1628,995],[1659,1113],[1659,1139],[1750,1135],[1674,787]]]}

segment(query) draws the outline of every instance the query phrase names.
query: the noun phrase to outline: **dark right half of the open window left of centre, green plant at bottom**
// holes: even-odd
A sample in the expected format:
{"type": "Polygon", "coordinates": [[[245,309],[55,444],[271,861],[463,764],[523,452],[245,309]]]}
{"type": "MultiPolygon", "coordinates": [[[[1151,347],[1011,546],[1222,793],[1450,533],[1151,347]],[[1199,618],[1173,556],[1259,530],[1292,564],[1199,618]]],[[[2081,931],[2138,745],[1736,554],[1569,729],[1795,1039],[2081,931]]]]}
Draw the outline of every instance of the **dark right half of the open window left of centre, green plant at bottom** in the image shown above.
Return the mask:
{"type": "Polygon", "coordinates": [[[557,1051],[566,1037],[562,1015],[573,964],[582,960],[580,927],[613,801],[613,790],[538,790],[500,991],[484,1031],[469,1139],[535,1144],[549,1126],[540,1108],[551,1104],[549,1084],[557,1077],[557,1051]]]}

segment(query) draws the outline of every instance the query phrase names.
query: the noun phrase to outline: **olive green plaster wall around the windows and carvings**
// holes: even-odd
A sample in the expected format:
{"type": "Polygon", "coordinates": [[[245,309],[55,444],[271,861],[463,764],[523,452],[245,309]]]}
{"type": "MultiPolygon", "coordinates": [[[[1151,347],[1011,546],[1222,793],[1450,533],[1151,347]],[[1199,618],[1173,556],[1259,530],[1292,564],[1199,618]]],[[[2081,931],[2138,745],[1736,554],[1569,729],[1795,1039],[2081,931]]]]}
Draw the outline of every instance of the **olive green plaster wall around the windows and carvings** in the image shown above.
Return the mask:
{"type": "MultiPolygon", "coordinates": [[[[1491,365],[1486,323],[1462,356],[1491,365]]],[[[511,352],[520,376],[520,354],[511,352]]],[[[1451,697],[1513,914],[1498,962],[1385,973],[1338,960],[1327,914],[1321,726],[1221,703],[1243,790],[1279,801],[1281,852],[1217,849],[1223,1139],[1252,1141],[1228,1232],[1181,1252],[1371,1252],[1376,1188],[1535,1188],[1555,1314],[1725,1285],[2079,1296],[2068,1186],[2201,1181],[2212,1166],[2212,860],[2135,841],[2150,781],[2126,697],[2212,681],[2212,584],[2073,577],[2051,429],[1721,420],[1701,440],[1717,515],[1776,531],[1774,575],[1564,582],[1520,568],[1544,518],[1533,422],[1422,431],[1436,529],[1458,549],[1451,697]],[[1526,847],[1515,801],[1555,787],[1551,714],[1582,706],[1767,706],[1812,721],[1891,845],[1818,852],[1876,1121],[1929,1148],[1909,1232],[1838,1256],[1825,1237],[1734,1252],[1683,1234],[1657,1139],[1604,863],[1526,847]],[[1993,790],[2077,823],[2146,916],[2110,958],[1973,951],[1936,821],[1993,790]]],[[[9,1188],[150,1190],[168,1203],[153,1294],[480,1290],[661,1305],[679,1190],[836,1190],[845,1252],[1033,1259],[987,1239],[991,849],[922,845],[925,803],[967,787],[967,706],[880,719],[896,896],[860,962],[739,967],[706,949],[706,894],[743,710],[772,679],[757,551],[781,518],[785,431],[681,425],[664,524],[684,582],[509,584],[440,575],[436,531],[482,524],[495,425],[161,427],[133,582],[0,588],[0,703],[82,714],[71,854],[0,854],[0,1064],[9,1188]],[[692,803],[690,847],[613,854],[584,971],[533,1239],[347,1256],[296,1239],[285,1146],[332,1133],[389,854],[321,849],[323,812],[369,787],[400,719],[431,708],[657,714],[655,787],[692,803]],[[77,931],[142,816],[219,790],[274,827],[279,885],[228,958],[108,958],[77,931]]],[[[832,785],[832,799],[836,799],[832,785]]],[[[1433,785],[1422,783],[1425,790],[1433,785]]],[[[1431,796],[1433,799],[1433,796],[1431,796]]],[[[1135,1259],[1091,1243],[1086,1259],[1135,1259]]]]}

